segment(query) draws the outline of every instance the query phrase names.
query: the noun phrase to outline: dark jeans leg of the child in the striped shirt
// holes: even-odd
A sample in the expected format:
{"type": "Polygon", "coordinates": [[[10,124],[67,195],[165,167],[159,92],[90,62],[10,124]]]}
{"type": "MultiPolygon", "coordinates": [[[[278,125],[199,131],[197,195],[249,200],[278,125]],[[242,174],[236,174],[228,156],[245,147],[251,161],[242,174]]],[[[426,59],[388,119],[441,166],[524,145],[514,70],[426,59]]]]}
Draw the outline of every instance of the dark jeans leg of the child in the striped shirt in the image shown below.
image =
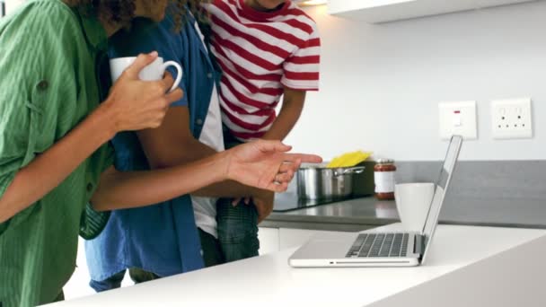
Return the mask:
{"type": "Polygon", "coordinates": [[[220,198],[216,202],[218,241],[226,262],[258,256],[260,249],[256,206],[243,201],[233,206],[232,201],[220,198]]]}

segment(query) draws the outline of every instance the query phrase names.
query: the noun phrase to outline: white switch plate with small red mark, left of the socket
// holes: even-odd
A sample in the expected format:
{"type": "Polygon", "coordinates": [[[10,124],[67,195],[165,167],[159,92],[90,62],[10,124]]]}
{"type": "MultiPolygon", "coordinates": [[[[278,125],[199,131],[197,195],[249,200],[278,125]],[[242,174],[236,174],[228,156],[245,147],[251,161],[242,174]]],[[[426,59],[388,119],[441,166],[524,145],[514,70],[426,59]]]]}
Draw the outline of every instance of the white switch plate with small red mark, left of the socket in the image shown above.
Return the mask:
{"type": "Polygon", "coordinates": [[[453,135],[464,139],[478,138],[476,127],[476,101],[450,101],[438,104],[440,138],[448,140],[453,135]]]}

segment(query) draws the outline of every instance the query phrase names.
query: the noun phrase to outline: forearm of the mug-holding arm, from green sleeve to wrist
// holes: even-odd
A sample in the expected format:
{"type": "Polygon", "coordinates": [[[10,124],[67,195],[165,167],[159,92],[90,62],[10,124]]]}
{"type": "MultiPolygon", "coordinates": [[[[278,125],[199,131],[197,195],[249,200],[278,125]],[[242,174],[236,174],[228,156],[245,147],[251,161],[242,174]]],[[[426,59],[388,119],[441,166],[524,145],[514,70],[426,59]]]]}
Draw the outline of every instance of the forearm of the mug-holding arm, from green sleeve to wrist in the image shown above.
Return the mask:
{"type": "Polygon", "coordinates": [[[17,171],[0,198],[0,223],[55,189],[115,134],[108,108],[99,108],[33,161],[17,171]]]}

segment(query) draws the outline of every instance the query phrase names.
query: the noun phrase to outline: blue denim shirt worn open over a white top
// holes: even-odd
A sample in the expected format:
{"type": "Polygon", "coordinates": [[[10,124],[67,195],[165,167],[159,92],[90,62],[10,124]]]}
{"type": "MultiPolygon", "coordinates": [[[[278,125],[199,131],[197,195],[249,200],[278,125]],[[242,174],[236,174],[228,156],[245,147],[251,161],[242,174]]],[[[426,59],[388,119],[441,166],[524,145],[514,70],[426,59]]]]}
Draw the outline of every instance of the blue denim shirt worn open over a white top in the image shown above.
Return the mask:
{"type": "MultiPolygon", "coordinates": [[[[190,130],[198,139],[218,74],[193,26],[195,20],[190,15],[187,18],[179,33],[173,31],[168,15],[160,23],[137,19],[130,32],[120,31],[110,39],[109,56],[131,57],[157,50],[164,61],[180,63],[183,77],[179,86],[184,97],[172,106],[189,107],[190,130]]],[[[176,69],[170,71],[176,75],[176,69]]],[[[149,169],[134,132],[119,133],[111,143],[119,171],[149,169]]],[[[203,268],[200,251],[188,195],[154,206],[115,210],[101,235],[85,243],[91,277],[98,281],[133,267],[159,276],[203,268]]]]}

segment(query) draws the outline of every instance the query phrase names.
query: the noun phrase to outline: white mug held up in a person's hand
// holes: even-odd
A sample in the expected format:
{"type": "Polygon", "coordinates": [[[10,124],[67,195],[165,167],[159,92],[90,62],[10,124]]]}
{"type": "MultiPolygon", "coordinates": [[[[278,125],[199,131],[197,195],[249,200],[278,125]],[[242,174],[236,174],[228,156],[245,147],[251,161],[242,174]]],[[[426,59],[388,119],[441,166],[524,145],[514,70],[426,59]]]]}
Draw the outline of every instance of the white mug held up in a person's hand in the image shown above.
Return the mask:
{"type": "MultiPolygon", "coordinates": [[[[123,73],[128,66],[133,64],[135,59],[137,59],[137,57],[116,57],[110,59],[110,76],[112,78],[112,83],[118,80],[121,73],[123,73]]],[[[140,71],[138,77],[143,81],[161,80],[163,79],[165,69],[167,69],[168,66],[174,66],[177,70],[176,79],[172,84],[171,90],[169,90],[169,92],[172,92],[182,80],[182,67],[174,61],[163,63],[163,57],[157,57],[154,62],[150,63],[148,66],[145,66],[140,71]]]]}

